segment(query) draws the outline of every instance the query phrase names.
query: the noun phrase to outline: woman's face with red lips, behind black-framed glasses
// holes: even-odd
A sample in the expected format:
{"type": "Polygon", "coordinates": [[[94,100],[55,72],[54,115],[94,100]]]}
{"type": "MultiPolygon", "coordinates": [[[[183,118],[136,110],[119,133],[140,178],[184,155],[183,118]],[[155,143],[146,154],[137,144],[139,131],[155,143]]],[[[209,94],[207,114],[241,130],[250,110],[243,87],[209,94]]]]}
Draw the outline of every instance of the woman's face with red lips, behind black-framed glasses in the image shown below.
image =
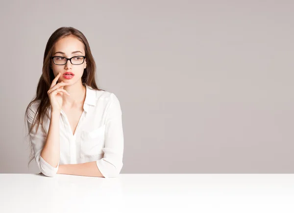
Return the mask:
{"type": "Polygon", "coordinates": [[[70,85],[79,81],[81,82],[84,69],[87,66],[86,58],[82,64],[76,65],[83,61],[82,57],[77,56],[85,56],[84,45],[82,42],[73,36],[62,38],[55,44],[51,56],[60,56],[54,59],[58,64],[65,63],[66,59],[64,58],[74,57],[72,59],[73,64],[68,60],[64,65],[57,65],[53,62],[53,59],[50,59],[50,66],[53,70],[54,76],[56,77],[59,72],[61,73],[57,82],[70,82],[70,85]],[[72,73],[73,76],[65,75],[67,72],[72,73]]]}

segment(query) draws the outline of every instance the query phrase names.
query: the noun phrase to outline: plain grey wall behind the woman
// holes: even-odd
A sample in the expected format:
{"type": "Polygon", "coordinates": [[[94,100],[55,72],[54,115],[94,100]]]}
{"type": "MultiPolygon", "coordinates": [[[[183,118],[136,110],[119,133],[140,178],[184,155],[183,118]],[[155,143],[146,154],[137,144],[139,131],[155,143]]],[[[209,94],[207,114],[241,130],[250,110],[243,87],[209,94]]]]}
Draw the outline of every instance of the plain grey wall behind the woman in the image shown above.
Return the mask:
{"type": "Polygon", "coordinates": [[[121,173],[293,173],[292,0],[2,1],[0,172],[27,169],[25,108],[59,27],[87,37],[123,111],[121,173]]]}

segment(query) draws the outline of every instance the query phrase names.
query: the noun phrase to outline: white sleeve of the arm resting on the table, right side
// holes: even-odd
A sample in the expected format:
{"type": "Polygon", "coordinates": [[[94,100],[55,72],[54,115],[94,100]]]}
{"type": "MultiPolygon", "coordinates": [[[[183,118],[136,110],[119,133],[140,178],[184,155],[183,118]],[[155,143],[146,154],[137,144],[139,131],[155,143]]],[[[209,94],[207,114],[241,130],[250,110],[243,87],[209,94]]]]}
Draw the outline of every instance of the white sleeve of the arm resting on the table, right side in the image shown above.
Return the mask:
{"type": "Polygon", "coordinates": [[[106,109],[104,156],[96,164],[105,178],[118,177],[123,168],[123,123],[121,105],[114,93],[106,109]]]}

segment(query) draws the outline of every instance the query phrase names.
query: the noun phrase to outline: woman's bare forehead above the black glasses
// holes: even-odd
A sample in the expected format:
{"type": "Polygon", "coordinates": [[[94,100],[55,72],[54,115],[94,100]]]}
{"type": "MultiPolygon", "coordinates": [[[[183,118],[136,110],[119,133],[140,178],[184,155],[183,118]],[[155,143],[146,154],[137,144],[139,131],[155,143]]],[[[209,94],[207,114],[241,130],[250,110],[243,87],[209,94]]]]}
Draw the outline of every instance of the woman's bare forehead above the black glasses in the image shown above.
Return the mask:
{"type": "Polygon", "coordinates": [[[71,55],[73,51],[80,51],[85,53],[84,44],[73,36],[59,39],[54,45],[53,54],[57,51],[66,53],[68,55],[71,55]]]}

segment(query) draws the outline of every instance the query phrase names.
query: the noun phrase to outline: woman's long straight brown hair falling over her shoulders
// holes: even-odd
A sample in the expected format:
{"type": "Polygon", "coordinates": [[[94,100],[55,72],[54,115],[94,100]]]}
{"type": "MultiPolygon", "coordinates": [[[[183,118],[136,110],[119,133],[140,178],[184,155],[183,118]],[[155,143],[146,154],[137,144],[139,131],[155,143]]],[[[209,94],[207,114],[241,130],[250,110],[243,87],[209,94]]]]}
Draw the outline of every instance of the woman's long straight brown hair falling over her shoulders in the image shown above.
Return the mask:
{"type": "MultiPolygon", "coordinates": [[[[32,127],[29,129],[28,134],[29,135],[34,128],[35,125],[37,127],[40,125],[42,126],[42,131],[45,132],[44,127],[43,127],[43,121],[44,121],[44,116],[48,115],[48,107],[50,106],[50,101],[49,101],[49,96],[47,94],[47,91],[50,88],[50,85],[52,83],[52,80],[55,78],[53,74],[53,70],[50,68],[50,57],[52,50],[54,48],[54,45],[56,42],[61,39],[65,38],[67,36],[75,36],[79,41],[81,41],[84,44],[84,49],[85,49],[85,55],[86,55],[86,62],[87,62],[87,67],[84,69],[84,73],[82,75],[82,83],[89,85],[95,90],[103,90],[99,89],[97,84],[96,84],[96,63],[94,60],[94,57],[91,53],[89,43],[84,36],[84,34],[73,28],[73,27],[60,27],[56,29],[52,35],[49,37],[49,40],[46,45],[45,53],[44,53],[44,59],[43,59],[43,68],[42,68],[42,75],[39,79],[39,83],[37,86],[37,91],[36,91],[36,96],[32,99],[32,101],[28,104],[25,110],[25,121],[27,118],[27,110],[28,108],[36,101],[40,100],[40,105],[37,108],[35,117],[34,117],[34,122],[32,124],[32,127]]],[[[105,90],[103,90],[105,91],[105,90]]],[[[37,129],[38,131],[38,129],[37,129]]],[[[37,133],[37,132],[36,132],[37,133]]],[[[31,139],[29,139],[29,146],[30,146],[30,156],[29,156],[29,161],[28,161],[28,166],[29,163],[34,159],[34,152],[32,148],[32,143],[31,139]]]]}

